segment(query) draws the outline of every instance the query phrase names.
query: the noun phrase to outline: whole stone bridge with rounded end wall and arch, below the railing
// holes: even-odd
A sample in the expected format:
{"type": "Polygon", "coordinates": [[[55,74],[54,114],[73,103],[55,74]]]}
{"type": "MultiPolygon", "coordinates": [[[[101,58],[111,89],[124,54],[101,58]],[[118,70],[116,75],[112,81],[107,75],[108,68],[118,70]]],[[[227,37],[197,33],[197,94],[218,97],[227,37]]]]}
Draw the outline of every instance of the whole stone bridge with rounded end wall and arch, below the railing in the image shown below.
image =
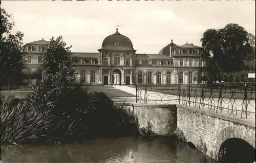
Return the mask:
{"type": "Polygon", "coordinates": [[[233,138],[246,142],[255,152],[255,122],[248,119],[179,104],[126,103],[124,108],[137,116],[139,128],[150,123],[153,132],[165,136],[176,130],[211,158],[217,159],[225,142],[233,138]]]}

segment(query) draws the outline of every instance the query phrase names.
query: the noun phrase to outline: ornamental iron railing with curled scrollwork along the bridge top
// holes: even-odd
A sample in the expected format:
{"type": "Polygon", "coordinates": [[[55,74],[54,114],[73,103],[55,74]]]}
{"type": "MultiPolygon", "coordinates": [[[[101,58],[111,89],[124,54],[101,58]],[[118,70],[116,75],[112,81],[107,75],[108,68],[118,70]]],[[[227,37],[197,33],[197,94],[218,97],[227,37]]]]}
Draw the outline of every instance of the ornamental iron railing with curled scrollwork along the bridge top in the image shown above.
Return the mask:
{"type": "Polygon", "coordinates": [[[178,103],[255,119],[255,83],[136,85],[136,103],[178,103]]]}

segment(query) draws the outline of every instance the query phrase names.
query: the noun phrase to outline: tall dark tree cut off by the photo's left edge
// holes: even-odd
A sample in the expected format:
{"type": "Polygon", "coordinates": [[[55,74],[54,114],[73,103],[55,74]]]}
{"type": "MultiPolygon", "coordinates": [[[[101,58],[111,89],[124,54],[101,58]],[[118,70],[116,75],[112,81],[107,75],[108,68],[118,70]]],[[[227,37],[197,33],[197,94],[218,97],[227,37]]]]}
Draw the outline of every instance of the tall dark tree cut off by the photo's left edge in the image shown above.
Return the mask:
{"type": "Polygon", "coordinates": [[[10,79],[22,73],[25,60],[23,58],[23,36],[20,31],[10,34],[14,26],[12,15],[1,8],[1,82],[8,82],[10,92],[10,79]],[[7,80],[7,81],[6,81],[7,80]]]}

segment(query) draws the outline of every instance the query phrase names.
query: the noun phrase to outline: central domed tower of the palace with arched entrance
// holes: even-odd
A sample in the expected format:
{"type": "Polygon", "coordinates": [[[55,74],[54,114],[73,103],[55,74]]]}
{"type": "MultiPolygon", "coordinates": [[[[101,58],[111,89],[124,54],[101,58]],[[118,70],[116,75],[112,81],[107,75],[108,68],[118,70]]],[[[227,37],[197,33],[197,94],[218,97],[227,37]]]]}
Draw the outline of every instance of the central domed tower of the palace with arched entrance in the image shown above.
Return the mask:
{"type": "Polygon", "coordinates": [[[131,85],[133,83],[136,50],[128,37],[120,34],[116,28],[114,34],[103,40],[98,51],[99,63],[102,69],[106,69],[102,74],[104,85],[131,85]]]}

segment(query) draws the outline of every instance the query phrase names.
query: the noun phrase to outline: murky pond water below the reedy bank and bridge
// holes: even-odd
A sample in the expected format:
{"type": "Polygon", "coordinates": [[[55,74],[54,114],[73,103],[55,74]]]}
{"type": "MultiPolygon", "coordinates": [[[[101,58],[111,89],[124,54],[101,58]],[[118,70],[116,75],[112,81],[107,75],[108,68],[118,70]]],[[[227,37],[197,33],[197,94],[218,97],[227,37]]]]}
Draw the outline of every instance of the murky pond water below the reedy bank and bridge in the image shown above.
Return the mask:
{"type": "Polygon", "coordinates": [[[174,138],[145,141],[140,137],[95,139],[76,144],[7,146],[3,162],[188,162],[209,163],[196,150],[174,138]]]}

